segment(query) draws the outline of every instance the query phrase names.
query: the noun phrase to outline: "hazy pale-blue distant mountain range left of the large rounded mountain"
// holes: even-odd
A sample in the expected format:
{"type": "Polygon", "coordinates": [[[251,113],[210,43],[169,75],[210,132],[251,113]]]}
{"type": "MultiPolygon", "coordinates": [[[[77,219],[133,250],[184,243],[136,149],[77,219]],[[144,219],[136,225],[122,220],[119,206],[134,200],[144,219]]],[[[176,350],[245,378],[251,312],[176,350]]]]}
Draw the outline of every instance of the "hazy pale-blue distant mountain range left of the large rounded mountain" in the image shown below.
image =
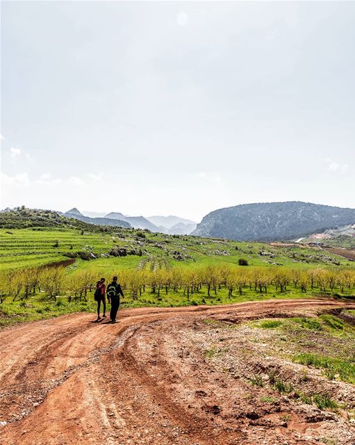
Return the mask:
{"type": "Polygon", "coordinates": [[[65,216],[76,218],[85,223],[97,225],[117,225],[120,227],[134,227],[135,229],[148,229],[151,232],[161,232],[170,235],[188,235],[197,227],[191,220],[179,216],[126,216],[123,213],[111,212],[108,214],[97,212],[81,213],[76,207],[65,212],[65,216]]]}

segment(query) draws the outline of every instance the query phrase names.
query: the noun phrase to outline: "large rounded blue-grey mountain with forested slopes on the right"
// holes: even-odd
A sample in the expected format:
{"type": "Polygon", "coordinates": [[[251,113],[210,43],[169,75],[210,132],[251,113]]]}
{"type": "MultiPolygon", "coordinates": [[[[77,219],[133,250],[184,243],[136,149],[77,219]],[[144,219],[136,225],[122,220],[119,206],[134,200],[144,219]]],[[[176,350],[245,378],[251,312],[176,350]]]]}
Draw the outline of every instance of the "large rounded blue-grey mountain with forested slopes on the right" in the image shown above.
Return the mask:
{"type": "Polygon", "coordinates": [[[290,240],[355,223],[355,209],[309,202],[241,204],[204,216],[192,235],[240,241],[290,240]]]}

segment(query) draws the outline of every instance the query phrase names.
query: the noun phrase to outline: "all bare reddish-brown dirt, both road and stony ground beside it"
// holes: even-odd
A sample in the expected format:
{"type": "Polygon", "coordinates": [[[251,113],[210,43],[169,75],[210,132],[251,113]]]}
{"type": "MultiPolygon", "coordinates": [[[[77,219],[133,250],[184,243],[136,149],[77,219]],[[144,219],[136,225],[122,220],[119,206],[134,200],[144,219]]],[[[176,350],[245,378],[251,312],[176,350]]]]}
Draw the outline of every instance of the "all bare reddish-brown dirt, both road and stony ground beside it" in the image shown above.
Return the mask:
{"type": "MultiPolygon", "coordinates": [[[[292,445],[330,437],[355,444],[354,423],[341,412],[273,398],[249,382],[251,373],[266,375],[270,366],[297,375],[302,365],[265,353],[248,330],[204,323],[337,308],[355,305],[272,300],[125,309],[116,325],[74,314],[2,330],[0,443],[292,445]],[[224,361],[222,353],[208,354],[216,343],[224,361]]],[[[316,385],[320,376],[312,378],[316,385]]],[[[325,389],[351,403],[352,385],[332,385],[325,389]]]]}

